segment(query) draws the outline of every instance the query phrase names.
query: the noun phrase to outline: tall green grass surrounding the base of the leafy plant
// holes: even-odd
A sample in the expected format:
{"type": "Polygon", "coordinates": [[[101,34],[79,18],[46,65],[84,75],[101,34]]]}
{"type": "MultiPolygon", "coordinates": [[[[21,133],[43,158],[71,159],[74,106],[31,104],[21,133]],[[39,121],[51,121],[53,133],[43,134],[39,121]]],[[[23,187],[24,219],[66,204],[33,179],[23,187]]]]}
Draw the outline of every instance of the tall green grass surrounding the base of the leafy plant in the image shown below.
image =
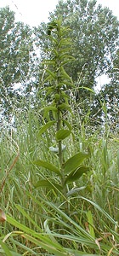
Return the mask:
{"type": "MultiPolygon", "coordinates": [[[[67,141],[65,154],[78,147],[88,148],[91,154],[91,171],[70,188],[70,213],[67,216],[57,190],[34,187],[37,178],[47,177],[48,172],[34,166],[33,160],[41,156],[47,160],[53,158],[48,150],[51,145],[48,134],[42,141],[37,136],[39,127],[38,115],[28,111],[26,118],[24,115],[18,117],[16,130],[3,130],[2,181],[17,155],[15,143],[19,146],[20,156],[1,193],[1,208],[7,214],[7,221],[0,228],[0,252],[3,255],[10,255],[7,252],[11,255],[119,255],[116,134],[105,139],[98,136],[97,131],[90,137],[84,131],[82,135],[77,131],[76,143],[67,141]]],[[[57,163],[57,156],[55,160],[57,163]]]]}

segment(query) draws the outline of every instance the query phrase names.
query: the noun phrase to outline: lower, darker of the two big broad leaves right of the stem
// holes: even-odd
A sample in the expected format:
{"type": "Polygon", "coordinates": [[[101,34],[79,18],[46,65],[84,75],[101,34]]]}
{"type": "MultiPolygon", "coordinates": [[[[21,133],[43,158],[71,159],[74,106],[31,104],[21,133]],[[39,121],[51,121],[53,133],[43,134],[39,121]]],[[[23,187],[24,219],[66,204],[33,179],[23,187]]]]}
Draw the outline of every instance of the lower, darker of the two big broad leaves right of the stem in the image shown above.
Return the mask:
{"type": "Polygon", "coordinates": [[[87,166],[81,166],[77,170],[71,172],[68,177],[65,178],[65,183],[72,183],[77,181],[79,177],[82,176],[83,173],[86,173],[89,171],[89,168],[87,166]]]}

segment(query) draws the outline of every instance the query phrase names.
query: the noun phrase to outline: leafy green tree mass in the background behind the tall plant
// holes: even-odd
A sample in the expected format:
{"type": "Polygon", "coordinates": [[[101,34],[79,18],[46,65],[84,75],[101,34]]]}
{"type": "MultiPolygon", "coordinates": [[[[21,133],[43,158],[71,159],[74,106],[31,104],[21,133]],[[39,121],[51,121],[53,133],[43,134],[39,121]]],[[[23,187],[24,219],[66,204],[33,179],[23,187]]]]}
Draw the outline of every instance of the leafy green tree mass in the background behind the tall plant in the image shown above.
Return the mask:
{"type": "MultiPolygon", "coordinates": [[[[96,1],[82,0],[59,1],[49,20],[59,16],[64,26],[71,28],[73,44],[69,53],[75,61],[65,65],[65,69],[76,84],[74,96],[82,116],[89,112],[91,124],[98,125],[97,120],[100,124],[104,113],[102,105],[105,104],[110,125],[116,126],[119,86],[116,16],[110,9],[97,6],[96,1]],[[95,90],[102,74],[110,79],[99,92],[93,94],[82,88],[95,90]]],[[[32,102],[32,108],[40,106],[38,93],[45,72],[42,60],[48,57],[50,47],[46,32],[46,23],[32,29],[22,22],[15,22],[14,12],[8,7],[1,9],[1,104],[6,117],[20,106],[21,109],[28,106],[29,102],[32,102]]]]}

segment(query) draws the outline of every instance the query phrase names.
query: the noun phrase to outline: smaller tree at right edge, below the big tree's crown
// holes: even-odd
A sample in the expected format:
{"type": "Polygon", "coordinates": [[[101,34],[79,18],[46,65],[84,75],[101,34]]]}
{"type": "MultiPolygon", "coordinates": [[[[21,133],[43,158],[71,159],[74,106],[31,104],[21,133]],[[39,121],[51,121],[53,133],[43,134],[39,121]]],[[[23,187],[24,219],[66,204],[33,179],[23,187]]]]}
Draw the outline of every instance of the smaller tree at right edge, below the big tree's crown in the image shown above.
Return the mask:
{"type": "Polygon", "coordinates": [[[94,97],[91,106],[91,118],[98,119],[99,123],[106,122],[111,131],[116,131],[118,127],[118,96],[119,96],[119,50],[113,56],[111,69],[108,72],[109,84],[104,84],[99,93],[94,97]]]}

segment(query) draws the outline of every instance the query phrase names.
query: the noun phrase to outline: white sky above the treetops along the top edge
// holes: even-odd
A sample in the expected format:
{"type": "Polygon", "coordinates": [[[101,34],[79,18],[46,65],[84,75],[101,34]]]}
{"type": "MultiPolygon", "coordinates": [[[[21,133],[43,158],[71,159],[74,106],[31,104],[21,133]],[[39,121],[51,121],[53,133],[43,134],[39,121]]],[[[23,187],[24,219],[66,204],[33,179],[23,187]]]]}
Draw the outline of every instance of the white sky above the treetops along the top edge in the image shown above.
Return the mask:
{"type": "MultiPolygon", "coordinates": [[[[42,21],[48,21],[48,13],[54,11],[58,2],[59,0],[0,0],[0,8],[9,5],[16,14],[16,20],[38,26],[42,21]]],[[[109,7],[119,18],[119,0],[97,0],[97,3],[109,7]]]]}

